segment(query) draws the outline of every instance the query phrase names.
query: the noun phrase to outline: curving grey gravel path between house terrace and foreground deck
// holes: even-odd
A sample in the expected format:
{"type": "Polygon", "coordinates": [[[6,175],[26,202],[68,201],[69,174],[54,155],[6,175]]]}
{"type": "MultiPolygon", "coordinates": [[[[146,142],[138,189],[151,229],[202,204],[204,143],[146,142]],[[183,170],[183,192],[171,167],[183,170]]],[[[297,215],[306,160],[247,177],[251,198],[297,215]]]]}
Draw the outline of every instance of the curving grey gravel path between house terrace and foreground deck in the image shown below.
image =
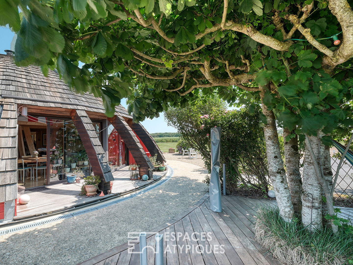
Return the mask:
{"type": "MultiPolygon", "coordinates": [[[[169,158],[168,158],[169,159],[169,158]]],[[[101,210],[0,236],[0,264],[77,264],[149,231],[195,204],[207,171],[168,160],[174,176],[158,188],[101,210]]]]}

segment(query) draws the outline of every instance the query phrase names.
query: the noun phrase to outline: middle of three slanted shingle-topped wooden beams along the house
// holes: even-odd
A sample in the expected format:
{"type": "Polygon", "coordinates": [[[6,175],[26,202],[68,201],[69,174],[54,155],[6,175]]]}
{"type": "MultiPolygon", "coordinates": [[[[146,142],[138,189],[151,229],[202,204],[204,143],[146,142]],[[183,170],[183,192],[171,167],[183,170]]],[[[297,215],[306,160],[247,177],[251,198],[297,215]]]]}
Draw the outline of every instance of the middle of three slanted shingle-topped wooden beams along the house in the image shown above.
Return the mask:
{"type": "Polygon", "coordinates": [[[142,145],[140,144],[140,141],[137,139],[130,126],[125,122],[123,118],[118,115],[108,118],[108,120],[114,126],[121,139],[124,140],[126,147],[132,154],[132,157],[140,165],[139,175],[148,175],[148,170],[153,170],[154,166],[152,165],[150,159],[147,157],[142,145]]]}

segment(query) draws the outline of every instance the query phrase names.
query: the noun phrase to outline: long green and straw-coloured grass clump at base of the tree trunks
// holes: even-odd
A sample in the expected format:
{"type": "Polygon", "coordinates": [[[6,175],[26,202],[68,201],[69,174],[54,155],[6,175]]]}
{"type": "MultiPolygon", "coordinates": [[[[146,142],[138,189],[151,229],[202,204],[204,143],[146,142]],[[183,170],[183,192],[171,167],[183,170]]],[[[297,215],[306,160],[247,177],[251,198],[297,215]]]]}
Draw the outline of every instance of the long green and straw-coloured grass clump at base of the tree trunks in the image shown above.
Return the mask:
{"type": "Polygon", "coordinates": [[[350,225],[343,225],[336,235],[330,228],[310,234],[310,228],[303,226],[298,218],[285,222],[277,207],[259,207],[255,240],[283,264],[353,264],[351,228],[350,225]]]}

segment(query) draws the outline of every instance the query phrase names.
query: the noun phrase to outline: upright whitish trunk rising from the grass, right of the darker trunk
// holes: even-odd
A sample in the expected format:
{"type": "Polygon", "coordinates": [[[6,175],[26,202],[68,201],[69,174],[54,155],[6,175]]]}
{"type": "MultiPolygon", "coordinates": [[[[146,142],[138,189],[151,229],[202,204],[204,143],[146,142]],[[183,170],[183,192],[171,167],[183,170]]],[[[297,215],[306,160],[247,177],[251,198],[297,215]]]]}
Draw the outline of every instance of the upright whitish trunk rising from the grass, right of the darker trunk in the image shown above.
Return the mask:
{"type": "MultiPolygon", "coordinates": [[[[315,157],[318,158],[318,138],[316,135],[309,136],[315,157]]],[[[321,145],[322,146],[322,145],[321,145]]],[[[305,144],[304,168],[303,168],[303,185],[302,185],[302,210],[301,221],[303,225],[308,226],[311,230],[322,229],[322,194],[323,190],[319,183],[313,160],[309,153],[309,147],[305,144]]],[[[321,154],[323,154],[321,147],[321,154]]],[[[321,155],[322,157],[322,155],[321,155]]]]}

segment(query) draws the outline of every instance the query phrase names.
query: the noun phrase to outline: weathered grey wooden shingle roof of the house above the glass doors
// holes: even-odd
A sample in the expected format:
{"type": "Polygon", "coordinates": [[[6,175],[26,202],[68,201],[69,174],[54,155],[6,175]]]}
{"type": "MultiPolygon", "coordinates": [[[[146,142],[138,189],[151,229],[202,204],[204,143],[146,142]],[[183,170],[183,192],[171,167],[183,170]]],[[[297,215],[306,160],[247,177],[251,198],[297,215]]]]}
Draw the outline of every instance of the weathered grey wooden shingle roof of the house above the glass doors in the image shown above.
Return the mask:
{"type": "MultiPolygon", "coordinates": [[[[75,93],[57,72],[49,70],[48,76],[44,76],[39,66],[17,66],[13,56],[5,54],[0,54],[0,98],[11,98],[25,105],[105,113],[101,98],[75,93]]],[[[132,118],[121,105],[115,110],[119,116],[132,118]]]]}

